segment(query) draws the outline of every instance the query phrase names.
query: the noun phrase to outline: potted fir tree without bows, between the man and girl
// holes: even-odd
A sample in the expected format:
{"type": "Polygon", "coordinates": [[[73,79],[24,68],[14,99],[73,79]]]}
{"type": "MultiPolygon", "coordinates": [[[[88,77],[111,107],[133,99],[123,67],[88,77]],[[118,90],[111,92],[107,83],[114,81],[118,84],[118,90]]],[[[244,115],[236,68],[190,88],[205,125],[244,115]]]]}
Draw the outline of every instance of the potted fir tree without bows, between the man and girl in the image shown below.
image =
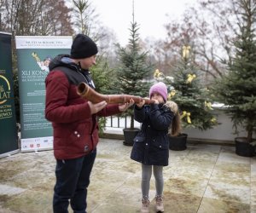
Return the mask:
{"type": "MultiPolygon", "coordinates": [[[[137,22],[131,23],[131,38],[126,48],[119,47],[119,69],[117,71],[117,82],[115,83],[119,94],[148,96],[150,83],[147,81],[154,70],[148,63],[148,53],[142,52],[139,45],[139,35],[137,22]]],[[[123,115],[131,118],[130,127],[125,128],[124,145],[132,146],[133,139],[139,129],[134,127],[133,108],[128,109],[123,115]]]]}

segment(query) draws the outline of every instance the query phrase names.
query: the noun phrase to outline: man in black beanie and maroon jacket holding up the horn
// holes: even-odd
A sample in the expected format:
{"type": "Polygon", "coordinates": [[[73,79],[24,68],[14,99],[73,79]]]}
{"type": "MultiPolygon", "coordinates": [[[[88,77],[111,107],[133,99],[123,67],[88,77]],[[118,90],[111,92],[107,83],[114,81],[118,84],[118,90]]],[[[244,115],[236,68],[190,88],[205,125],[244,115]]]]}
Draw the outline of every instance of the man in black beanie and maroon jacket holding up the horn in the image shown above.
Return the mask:
{"type": "Polygon", "coordinates": [[[95,89],[89,68],[96,64],[97,52],[96,43],[79,34],[73,40],[71,55],[57,55],[49,64],[45,118],[52,122],[54,130],[54,212],[67,212],[69,202],[73,212],[86,212],[87,187],[98,143],[96,116],[123,112],[134,103],[93,104],[77,94],[81,82],[95,89]]]}

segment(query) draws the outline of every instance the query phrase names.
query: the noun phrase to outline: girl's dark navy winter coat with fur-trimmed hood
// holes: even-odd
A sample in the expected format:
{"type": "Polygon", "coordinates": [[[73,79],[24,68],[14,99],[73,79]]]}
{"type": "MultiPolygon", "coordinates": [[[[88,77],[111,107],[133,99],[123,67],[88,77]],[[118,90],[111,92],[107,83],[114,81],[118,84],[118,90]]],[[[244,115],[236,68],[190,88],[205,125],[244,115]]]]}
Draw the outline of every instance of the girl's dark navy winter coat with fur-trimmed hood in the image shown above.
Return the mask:
{"type": "Polygon", "coordinates": [[[163,104],[134,107],[134,118],[142,124],[134,139],[131,159],[147,165],[168,165],[168,129],[174,117],[170,108],[163,104]]]}

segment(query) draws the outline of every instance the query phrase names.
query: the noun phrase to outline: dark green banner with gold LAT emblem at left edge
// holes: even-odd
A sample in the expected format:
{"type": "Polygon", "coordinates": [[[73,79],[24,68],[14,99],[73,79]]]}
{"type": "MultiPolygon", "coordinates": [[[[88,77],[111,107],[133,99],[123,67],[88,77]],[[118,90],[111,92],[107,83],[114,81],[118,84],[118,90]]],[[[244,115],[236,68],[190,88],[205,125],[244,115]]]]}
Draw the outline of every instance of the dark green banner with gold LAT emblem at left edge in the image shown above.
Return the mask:
{"type": "Polygon", "coordinates": [[[11,34],[0,32],[0,158],[18,153],[11,34]]]}

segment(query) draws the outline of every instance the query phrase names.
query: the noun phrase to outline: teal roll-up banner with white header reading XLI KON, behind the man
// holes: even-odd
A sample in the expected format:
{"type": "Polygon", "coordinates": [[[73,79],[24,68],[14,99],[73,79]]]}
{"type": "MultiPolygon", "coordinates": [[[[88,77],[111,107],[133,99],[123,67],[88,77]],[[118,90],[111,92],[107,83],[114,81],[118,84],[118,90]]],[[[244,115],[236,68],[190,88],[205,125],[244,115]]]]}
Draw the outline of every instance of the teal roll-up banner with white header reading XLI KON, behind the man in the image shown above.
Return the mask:
{"type": "Polygon", "coordinates": [[[72,37],[15,37],[20,90],[21,152],[53,147],[52,126],[44,118],[49,62],[69,54],[72,37]]]}

